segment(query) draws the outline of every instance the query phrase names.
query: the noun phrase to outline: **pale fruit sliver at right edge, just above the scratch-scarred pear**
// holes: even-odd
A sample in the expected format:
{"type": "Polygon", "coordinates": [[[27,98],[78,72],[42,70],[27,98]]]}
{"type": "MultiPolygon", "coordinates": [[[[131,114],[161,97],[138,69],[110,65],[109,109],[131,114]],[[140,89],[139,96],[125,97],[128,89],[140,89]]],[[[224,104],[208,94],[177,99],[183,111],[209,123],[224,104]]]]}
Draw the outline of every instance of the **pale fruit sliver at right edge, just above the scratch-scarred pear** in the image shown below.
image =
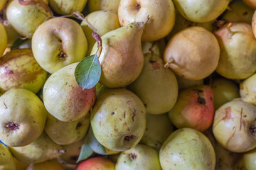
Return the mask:
{"type": "Polygon", "coordinates": [[[240,96],[243,101],[256,105],[256,74],[252,74],[240,83],[240,96]]]}

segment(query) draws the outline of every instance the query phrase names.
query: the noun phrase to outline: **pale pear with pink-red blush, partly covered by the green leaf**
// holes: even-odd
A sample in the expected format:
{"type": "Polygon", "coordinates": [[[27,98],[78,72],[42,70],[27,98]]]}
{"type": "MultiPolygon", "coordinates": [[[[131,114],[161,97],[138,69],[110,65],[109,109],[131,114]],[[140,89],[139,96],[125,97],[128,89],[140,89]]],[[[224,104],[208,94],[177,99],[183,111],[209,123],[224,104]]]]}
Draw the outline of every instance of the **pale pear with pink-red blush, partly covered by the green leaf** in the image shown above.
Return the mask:
{"type": "Polygon", "coordinates": [[[95,103],[95,87],[82,90],[75,81],[77,65],[78,62],[69,64],[54,72],[43,86],[43,102],[47,111],[63,122],[82,118],[95,103]]]}

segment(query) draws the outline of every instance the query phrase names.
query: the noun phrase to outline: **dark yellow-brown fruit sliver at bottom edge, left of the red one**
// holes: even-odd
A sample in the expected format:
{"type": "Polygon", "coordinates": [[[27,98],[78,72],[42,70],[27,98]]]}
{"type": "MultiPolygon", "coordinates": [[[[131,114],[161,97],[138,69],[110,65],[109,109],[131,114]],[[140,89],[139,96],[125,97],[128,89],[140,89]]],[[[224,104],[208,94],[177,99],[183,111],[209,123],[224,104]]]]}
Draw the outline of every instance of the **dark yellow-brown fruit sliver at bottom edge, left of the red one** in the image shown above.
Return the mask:
{"type": "Polygon", "coordinates": [[[65,170],[63,166],[55,161],[55,160],[48,160],[46,162],[41,162],[38,164],[30,164],[26,170],[65,170]]]}

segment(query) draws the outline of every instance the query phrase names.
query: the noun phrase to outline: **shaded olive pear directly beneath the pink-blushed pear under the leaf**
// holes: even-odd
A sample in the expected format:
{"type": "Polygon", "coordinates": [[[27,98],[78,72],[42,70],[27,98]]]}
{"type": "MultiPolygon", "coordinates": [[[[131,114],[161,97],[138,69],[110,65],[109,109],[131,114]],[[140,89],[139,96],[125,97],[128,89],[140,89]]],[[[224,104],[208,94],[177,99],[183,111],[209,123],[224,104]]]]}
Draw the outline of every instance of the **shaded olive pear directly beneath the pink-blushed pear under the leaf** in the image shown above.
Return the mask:
{"type": "Polygon", "coordinates": [[[58,145],[70,145],[85,136],[90,125],[90,115],[87,114],[72,122],[62,122],[48,114],[45,131],[53,142],[58,145]]]}

